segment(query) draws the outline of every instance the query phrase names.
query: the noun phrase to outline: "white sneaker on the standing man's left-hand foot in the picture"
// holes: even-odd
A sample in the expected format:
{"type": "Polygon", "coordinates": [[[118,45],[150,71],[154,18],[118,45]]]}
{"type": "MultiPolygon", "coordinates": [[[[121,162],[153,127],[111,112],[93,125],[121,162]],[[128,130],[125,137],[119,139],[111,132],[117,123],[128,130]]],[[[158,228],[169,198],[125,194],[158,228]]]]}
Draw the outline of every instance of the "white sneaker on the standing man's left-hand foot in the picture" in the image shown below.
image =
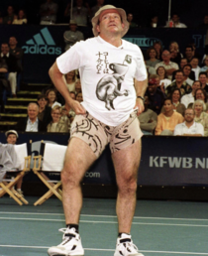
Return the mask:
{"type": "Polygon", "coordinates": [[[52,246],[48,250],[50,256],[83,256],[84,250],[81,245],[81,238],[76,233],[75,228],[60,228],[63,232],[62,242],[57,246],[52,246]]]}

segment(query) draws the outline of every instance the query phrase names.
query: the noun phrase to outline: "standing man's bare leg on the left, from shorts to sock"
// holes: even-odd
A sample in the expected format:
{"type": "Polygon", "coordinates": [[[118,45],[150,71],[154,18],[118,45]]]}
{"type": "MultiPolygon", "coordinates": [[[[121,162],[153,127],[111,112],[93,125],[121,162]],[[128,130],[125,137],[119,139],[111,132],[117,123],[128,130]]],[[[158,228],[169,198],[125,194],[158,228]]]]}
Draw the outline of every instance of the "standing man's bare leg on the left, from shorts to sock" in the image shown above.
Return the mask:
{"type": "Polygon", "coordinates": [[[95,154],[85,142],[78,138],[70,140],[61,172],[62,204],[66,224],[78,224],[82,206],[80,182],[95,160],[95,154]]]}

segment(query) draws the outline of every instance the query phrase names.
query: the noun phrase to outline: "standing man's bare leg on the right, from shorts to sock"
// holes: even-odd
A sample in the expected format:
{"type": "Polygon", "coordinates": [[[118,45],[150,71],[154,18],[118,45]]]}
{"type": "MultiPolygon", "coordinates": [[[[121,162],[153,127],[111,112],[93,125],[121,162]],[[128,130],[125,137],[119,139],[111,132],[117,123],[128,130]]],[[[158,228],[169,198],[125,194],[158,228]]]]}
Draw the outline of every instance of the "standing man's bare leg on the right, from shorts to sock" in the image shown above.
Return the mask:
{"type": "Polygon", "coordinates": [[[137,176],[141,159],[141,140],[112,154],[118,185],[116,212],[119,233],[130,233],[136,207],[137,176]]]}

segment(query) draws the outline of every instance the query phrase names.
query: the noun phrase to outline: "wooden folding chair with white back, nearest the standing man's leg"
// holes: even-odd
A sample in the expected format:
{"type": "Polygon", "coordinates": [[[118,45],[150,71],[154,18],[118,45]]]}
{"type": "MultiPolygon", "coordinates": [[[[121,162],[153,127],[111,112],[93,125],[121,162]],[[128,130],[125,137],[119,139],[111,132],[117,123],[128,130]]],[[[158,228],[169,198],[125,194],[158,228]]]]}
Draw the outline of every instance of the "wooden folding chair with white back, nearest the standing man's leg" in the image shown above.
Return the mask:
{"type": "Polygon", "coordinates": [[[34,157],[33,171],[49,188],[49,192],[46,192],[40,199],[38,199],[34,203],[35,206],[45,202],[52,196],[52,194],[62,200],[62,192],[59,189],[61,186],[60,179],[50,180],[49,175],[58,175],[59,177],[60,171],[63,167],[66,148],[66,146],[42,142],[41,155],[34,157]]]}

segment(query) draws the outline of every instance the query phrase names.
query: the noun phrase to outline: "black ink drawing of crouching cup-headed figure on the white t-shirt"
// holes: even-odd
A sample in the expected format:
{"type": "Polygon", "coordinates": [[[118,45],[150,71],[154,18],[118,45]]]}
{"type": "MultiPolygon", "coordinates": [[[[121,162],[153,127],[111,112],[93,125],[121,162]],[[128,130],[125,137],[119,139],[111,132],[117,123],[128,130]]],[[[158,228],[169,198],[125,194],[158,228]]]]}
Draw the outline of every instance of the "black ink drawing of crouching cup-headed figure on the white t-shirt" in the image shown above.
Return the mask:
{"type": "MultiPolygon", "coordinates": [[[[127,62],[127,57],[125,61],[127,62]]],[[[128,64],[132,63],[131,57],[128,56],[128,64]]],[[[124,61],[124,63],[125,63],[124,61]]],[[[121,90],[121,85],[124,80],[125,74],[129,69],[129,65],[126,64],[109,64],[113,73],[104,75],[97,83],[96,95],[101,101],[105,101],[105,107],[108,110],[115,109],[113,100],[118,96],[128,96],[129,91],[127,89],[121,90]]]]}

